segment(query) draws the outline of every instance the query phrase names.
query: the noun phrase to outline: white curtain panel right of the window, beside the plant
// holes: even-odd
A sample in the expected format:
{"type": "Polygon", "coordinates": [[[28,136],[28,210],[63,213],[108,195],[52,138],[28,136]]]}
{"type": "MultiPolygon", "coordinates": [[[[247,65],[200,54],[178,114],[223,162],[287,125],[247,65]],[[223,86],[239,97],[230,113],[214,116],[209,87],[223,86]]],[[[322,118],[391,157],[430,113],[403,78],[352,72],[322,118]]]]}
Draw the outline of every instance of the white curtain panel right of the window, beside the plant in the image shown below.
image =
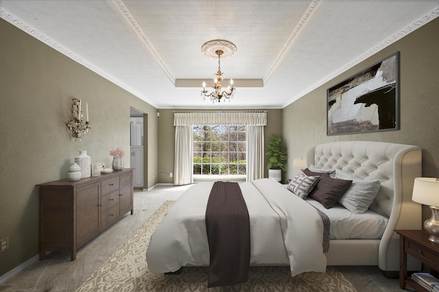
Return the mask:
{"type": "Polygon", "coordinates": [[[263,178],[264,138],[263,125],[246,126],[247,138],[247,181],[263,178]]]}

